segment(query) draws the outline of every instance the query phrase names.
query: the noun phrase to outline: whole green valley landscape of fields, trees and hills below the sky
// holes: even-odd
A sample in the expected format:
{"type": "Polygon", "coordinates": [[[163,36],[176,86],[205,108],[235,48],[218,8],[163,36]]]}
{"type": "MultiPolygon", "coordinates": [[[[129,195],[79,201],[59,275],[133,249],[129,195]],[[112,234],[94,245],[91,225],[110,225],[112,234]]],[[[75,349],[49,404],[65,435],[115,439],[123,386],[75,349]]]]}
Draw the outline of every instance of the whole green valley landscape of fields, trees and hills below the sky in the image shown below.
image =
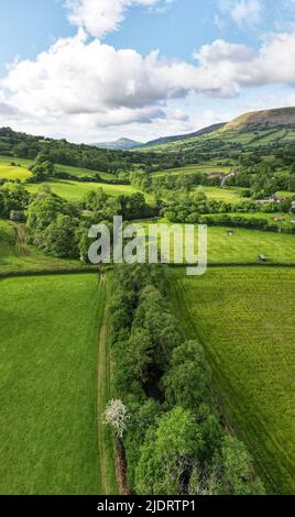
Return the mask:
{"type": "Polygon", "coordinates": [[[292,494],[295,109],[121,143],[0,130],[0,492],[292,494]],[[118,215],[207,224],[207,273],[89,264],[118,215]]]}

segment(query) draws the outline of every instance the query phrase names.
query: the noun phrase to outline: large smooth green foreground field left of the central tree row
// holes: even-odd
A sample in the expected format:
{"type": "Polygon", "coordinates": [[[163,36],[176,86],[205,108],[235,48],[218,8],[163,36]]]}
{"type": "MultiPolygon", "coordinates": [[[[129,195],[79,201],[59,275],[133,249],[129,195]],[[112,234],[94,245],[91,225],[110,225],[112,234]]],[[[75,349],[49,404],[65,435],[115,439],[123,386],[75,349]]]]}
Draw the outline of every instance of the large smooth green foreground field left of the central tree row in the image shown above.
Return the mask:
{"type": "Polygon", "coordinates": [[[1,494],[118,493],[97,424],[106,292],[97,275],[0,280],[1,494]]]}

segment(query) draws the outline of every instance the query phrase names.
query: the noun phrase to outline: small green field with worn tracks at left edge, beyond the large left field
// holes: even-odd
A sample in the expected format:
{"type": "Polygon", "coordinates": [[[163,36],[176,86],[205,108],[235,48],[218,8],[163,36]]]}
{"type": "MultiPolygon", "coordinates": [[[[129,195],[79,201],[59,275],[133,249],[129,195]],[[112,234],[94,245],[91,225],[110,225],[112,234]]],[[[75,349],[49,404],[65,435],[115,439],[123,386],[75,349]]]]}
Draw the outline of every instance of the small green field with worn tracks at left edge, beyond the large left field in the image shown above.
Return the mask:
{"type": "Polygon", "coordinates": [[[0,219],[0,275],[18,272],[65,271],[77,267],[80,267],[78,261],[46,256],[29,246],[25,242],[23,224],[0,219]]]}

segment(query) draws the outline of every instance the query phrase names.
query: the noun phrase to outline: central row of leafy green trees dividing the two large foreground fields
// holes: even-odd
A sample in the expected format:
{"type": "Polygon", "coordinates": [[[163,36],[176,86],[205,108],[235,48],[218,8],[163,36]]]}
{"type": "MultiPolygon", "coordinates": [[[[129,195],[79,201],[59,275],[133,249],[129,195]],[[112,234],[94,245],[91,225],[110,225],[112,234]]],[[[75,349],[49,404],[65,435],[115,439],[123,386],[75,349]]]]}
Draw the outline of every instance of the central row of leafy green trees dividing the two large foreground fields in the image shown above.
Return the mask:
{"type": "Polygon", "coordinates": [[[163,270],[122,265],[116,285],[112,391],[121,409],[118,419],[111,404],[107,420],[124,448],[130,490],[263,494],[244,444],[220,426],[204,349],[182,339],[163,270]]]}

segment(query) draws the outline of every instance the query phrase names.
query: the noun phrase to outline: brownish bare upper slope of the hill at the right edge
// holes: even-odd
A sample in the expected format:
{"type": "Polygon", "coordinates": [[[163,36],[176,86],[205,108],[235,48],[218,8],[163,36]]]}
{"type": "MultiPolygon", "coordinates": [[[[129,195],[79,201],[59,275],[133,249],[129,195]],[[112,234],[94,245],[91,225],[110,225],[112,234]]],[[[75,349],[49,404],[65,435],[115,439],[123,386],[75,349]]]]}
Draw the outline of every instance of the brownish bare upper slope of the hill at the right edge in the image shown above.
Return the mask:
{"type": "Polygon", "coordinates": [[[245,127],[266,129],[267,127],[287,127],[294,124],[295,108],[281,108],[275,110],[251,111],[250,113],[242,114],[227,123],[222,130],[244,129],[245,127]]]}

